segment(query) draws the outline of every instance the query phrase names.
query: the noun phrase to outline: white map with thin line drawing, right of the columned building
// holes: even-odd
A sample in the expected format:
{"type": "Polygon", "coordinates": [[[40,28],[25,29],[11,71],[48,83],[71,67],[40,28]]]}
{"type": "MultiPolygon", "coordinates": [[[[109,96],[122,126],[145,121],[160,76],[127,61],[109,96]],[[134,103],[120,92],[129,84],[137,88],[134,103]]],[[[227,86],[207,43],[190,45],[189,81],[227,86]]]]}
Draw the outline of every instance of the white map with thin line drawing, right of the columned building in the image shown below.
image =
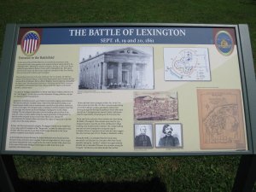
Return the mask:
{"type": "Polygon", "coordinates": [[[207,48],[165,48],[165,80],[210,81],[207,48]]]}

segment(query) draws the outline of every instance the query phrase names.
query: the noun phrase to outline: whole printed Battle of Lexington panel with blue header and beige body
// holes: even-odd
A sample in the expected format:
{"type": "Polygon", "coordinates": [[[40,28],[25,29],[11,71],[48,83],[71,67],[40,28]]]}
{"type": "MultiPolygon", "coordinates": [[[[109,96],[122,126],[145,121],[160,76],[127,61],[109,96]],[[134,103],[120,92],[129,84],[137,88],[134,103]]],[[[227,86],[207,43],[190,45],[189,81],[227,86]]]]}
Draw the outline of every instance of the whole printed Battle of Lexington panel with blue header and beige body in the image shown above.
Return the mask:
{"type": "Polygon", "coordinates": [[[14,27],[2,153],[252,151],[237,30],[14,27]]]}

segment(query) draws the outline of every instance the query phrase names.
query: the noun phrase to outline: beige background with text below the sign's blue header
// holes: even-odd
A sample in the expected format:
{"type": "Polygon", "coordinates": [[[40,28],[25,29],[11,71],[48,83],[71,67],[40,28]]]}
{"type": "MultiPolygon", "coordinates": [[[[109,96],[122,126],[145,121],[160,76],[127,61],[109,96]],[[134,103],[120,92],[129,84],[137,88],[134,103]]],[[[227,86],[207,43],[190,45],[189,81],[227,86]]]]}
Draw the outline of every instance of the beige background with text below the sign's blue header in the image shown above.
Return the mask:
{"type": "MultiPolygon", "coordinates": [[[[125,45],[122,45],[122,49],[139,47],[141,50],[141,47],[147,47],[145,44],[125,45]]],[[[236,45],[232,54],[221,55],[215,45],[150,44],[148,47],[153,49],[154,89],[117,89],[117,87],[105,90],[79,89],[79,51],[81,47],[92,46],[101,47],[103,45],[41,45],[36,55],[27,57],[18,45],[6,150],[172,153],[247,149],[236,45]],[[195,73],[201,74],[200,80],[172,81],[165,79],[165,57],[167,58],[167,55],[164,54],[164,49],[168,48],[177,48],[178,53],[189,48],[193,51],[196,49],[207,50],[207,55],[204,55],[207,56],[206,66],[210,70],[206,74],[207,80],[202,78],[204,70],[201,71],[200,68],[195,68],[195,73]],[[134,98],[137,96],[136,92],[139,92],[140,96],[143,96],[143,93],[146,95],[148,92],[150,93],[142,101],[143,105],[152,108],[151,113],[154,112],[156,106],[159,108],[157,110],[164,110],[160,108],[160,103],[166,102],[161,96],[154,97],[154,93],[167,92],[170,93],[167,94],[170,98],[173,93],[177,93],[178,118],[135,119],[134,98]],[[204,93],[212,95],[205,97],[204,93]],[[233,97],[228,93],[236,96],[237,114],[235,116],[239,121],[237,133],[240,137],[236,139],[236,136],[232,136],[232,144],[220,141],[217,144],[207,144],[202,139],[202,136],[207,134],[207,127],[202,121],[205,119],[205,115],[210,116],[211,114],[202,110],[201,107],[205,107],[206,103],[211,105],[216,98],[215,94],[221,94],[222,100],[233,104],[231,102],[233,97]],[[134,125],[140,124],[152,125],[152,139],[154,140],[152,148],[135,148],[134,125]],[[158,141],[155,137],[155,125],[166,124],[181,125],[181,130],[178,131],[181,134],[180,140],[182,140],[180,147],[156,147],[155,143],[158,141]]],[[[108,46],[120,48],[116,44],[103,47],[108,46]]],[[[203,66],[202,58],[200,63],[195,61],[194,64],[203,66]]],[[[179,57],[179,59],[182,58],[179,57]]],[[[173,62],[173,60],[169,61],[173,62]]],[[[179,62],[179,64],[183,63],[179,62]]],[[[183,74],[193,73],[189,68],[183,67],[183,69],[180,68],[180,70],[184,70],[180,71],[183,74]]],[[[189,67],[195,66],[191,64],[189,67]]],[[[193,75],[192,78],[196,76],[193,75]]],[[[172,109],[170,113],[172,113],[172,109]]],[[[226,119],[227,124],[229,124],[228,121],[229,119],[226,119]]],[[[223,129],[226,129],[226,126],[223,129]]],[[[229,133],[228,136],[231,134],[229,133]]]]}

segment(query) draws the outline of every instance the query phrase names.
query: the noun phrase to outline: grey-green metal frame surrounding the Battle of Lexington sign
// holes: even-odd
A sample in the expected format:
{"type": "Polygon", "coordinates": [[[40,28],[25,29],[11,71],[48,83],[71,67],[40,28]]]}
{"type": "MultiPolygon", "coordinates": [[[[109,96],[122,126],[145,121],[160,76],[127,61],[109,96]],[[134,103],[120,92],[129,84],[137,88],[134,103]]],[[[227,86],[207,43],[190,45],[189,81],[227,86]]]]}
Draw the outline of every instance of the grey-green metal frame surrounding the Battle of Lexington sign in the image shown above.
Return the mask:
{"type": "Polygon", "coordinates": [[[249,38],[249,31],[247,25],[198,25],[198,24],[38,24],[38,25],[27,25],[27,24],[9,24],[6,28],[5,38],[3,43],[3,57],[1,62],[0,70],[0,153],[1,154],[36,154],[36,155],[90,155],[90,156],[175,156],[175,155],[224,155],[224,154],[255,154],[256,153],[256,119],[253,118],[256,115],[256,89],[255,89],[255,74],[253,67],[253,56],[251,43],[249,38]],[[9,102],[11,94],[11,84],[14,67],[15,67],[15,54],[16,45],[18,41],[18,32],[20,28],[23,27],[195,27],[195,28],[233,28],[236,31],[236,44],[237,52],[239,58],[239,67],[241,73],[241,86],[243,94],[243,106],[246,121],[246,132],[247,132],[247,151],[214,151],[214,152],[164,152],[164,153],[99,153],[99,152],[50,152],[50,151],[7,151],[5,150],[5,142],[7,135],[7,125],[8,125],[8,114],[9,114],[9,102]]]}

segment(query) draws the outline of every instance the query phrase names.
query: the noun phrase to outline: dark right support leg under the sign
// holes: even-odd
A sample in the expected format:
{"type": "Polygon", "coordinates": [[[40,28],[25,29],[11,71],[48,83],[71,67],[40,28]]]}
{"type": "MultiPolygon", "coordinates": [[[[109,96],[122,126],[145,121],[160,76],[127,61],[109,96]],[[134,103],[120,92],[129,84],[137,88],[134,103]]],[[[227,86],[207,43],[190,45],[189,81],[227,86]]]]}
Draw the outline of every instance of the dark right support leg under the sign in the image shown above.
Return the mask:
{"type": "Polygon", "coordinates": [[[236,179],[232,192],[253,191],[256,181],[256,155],[242,155],[236,172],[236,179]]]}

